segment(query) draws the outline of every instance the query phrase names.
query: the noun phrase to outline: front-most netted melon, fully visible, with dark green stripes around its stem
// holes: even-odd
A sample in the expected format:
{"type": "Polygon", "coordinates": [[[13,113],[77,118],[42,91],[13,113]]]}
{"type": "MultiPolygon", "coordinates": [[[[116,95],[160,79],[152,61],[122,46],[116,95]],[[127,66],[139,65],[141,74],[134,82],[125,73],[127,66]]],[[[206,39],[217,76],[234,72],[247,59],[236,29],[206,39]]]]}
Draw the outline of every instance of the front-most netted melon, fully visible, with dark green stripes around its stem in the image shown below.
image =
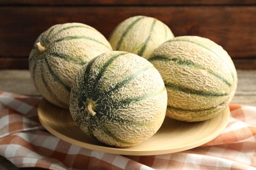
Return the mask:
{"type": "Polygon", "coordinates": [[[160,73],[129,52],[106,52],[75,76],[70,113],[94,139],[117,147],[150,138],[165,118],[167,92],[160,73]]]}

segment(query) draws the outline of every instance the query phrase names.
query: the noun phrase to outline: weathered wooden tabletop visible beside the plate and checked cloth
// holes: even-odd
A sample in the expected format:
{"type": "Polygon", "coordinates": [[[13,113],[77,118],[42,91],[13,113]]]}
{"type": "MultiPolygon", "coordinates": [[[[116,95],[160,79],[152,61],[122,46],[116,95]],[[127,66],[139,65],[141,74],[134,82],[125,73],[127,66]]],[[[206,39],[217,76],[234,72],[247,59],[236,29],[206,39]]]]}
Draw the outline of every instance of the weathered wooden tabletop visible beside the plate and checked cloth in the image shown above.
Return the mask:
{"type": "MultiPolygon", "coordinates": [[[[23,95],[40,95],[33,86],[28,70],[0,70],[0,90],[23,95]]],[[[256,70],[238,70],[238,88],[231,103],[256,106],[256,70]]],[[[0,156],[0,169],[16,167],[0,156]]]]}

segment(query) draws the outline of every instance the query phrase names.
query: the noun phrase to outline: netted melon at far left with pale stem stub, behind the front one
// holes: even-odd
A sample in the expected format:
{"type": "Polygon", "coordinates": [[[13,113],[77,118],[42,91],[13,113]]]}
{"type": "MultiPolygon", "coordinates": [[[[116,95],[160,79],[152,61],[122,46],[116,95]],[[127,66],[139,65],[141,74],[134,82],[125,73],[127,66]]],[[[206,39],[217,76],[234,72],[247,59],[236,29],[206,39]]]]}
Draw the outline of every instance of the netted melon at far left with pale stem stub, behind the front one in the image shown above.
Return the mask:
{"type": "Polygon", "coordinates": [[[30,52],[29,69],[35,88],[47,101],[68,109],[77,71],[111,50],[107,39],[89,25],[53,25],[39,35],[30,52]]]}

